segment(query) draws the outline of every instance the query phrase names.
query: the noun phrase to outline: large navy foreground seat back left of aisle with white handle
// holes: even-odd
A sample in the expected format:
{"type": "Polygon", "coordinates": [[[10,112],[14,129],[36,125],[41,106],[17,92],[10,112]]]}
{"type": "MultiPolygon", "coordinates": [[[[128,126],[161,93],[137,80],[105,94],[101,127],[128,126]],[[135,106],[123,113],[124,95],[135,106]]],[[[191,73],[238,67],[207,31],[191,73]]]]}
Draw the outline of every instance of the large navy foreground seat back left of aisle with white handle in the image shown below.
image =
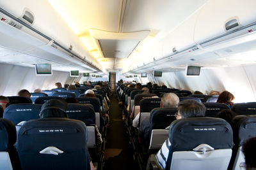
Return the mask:
{"type": "Polygon", "coordinates": [[[87,140],[86,125],[79,120],[30,120],[18,138],[22,169],[90,169],[87,140]]]}

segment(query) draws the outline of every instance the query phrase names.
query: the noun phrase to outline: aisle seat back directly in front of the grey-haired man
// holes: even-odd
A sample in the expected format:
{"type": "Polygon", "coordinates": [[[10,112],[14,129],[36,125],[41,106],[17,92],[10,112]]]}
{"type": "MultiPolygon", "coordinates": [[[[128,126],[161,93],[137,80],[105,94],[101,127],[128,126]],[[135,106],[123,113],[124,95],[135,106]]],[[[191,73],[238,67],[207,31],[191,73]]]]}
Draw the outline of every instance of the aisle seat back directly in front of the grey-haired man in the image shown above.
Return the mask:
{"type": "Polygon", "coordinates": [[[141,99],[138,127],[140,127],[140,124],[141,122],[143,122],[143,120],[148,120],[149,122],[150,111],[152,111],[154,108],[160,108],[160,104],[161,104],[160,97],[141,99]]]}

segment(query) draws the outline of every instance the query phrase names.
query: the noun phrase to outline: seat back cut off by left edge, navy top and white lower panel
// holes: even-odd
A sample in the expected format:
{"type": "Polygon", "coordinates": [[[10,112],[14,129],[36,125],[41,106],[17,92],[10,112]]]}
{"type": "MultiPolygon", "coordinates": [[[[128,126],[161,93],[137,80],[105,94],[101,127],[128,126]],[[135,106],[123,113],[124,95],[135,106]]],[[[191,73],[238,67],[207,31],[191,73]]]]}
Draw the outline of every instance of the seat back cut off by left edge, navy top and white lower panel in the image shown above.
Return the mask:
{"type": "Polygon", "coordinates": [[[19,159],[17,159],[17,152],[13,147],[16,142],[16,130],[13,122],[0,118],[0,136],[0,169],[19,169],[19,159]]]}

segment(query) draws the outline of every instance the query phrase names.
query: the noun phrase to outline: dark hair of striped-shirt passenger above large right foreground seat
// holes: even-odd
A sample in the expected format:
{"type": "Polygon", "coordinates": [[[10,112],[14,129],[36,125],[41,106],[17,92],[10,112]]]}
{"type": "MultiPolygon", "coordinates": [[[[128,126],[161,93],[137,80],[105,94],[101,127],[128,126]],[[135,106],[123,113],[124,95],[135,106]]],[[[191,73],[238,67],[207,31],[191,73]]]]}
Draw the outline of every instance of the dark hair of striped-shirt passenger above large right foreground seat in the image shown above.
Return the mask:
{"type": "Polygon", "coordinates": [[[204,117],[206,108],[204,104],[195,100],[184,100],[179,103],[180,115],[184,118],[188,117],[204,117]]]}

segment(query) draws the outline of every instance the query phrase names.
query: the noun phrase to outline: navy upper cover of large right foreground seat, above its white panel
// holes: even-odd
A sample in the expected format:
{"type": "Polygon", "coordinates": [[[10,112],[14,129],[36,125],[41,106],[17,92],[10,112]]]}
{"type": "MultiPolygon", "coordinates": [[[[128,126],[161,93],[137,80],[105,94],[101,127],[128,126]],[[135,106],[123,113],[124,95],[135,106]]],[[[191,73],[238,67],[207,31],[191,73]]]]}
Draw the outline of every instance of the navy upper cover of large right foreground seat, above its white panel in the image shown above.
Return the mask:
{"type": "Polygon", "coordinates": [[[203,143],[214,149],[232,148],[234,145],[232,128],[221,118],[194,117],[174,120],[170,125],[169,139],[173,152],[193,150],[203,143]]]}

